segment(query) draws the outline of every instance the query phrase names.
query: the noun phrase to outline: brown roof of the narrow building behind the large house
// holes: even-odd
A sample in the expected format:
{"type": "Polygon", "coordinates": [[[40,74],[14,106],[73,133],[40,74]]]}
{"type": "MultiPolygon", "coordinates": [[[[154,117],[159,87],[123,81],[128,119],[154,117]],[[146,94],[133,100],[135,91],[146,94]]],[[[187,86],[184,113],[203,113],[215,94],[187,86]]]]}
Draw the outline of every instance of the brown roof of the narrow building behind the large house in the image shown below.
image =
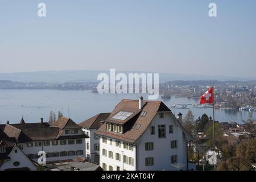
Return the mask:
{"type": "Polygon", "coordinates": [[[102,125],[102,122],[100,121],[105,121],[110,114],[111,113],[100,113],[94,115],[92,118],[86,119],[85,121],[81,122],[79,126],[86,129],[98,129],[102,125]]]}

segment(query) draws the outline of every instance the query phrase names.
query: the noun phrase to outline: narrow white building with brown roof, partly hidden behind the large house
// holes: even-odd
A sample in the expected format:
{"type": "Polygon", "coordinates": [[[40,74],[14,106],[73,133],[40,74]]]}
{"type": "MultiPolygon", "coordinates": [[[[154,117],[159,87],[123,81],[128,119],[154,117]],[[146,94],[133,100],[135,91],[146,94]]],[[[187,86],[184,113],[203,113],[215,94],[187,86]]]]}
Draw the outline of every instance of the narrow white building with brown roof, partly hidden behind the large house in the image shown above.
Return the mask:
{"type": "Polygon", "coordinates": [[[84,133],[89,136],[89,138],[85,139],[86,159],[88,162],[100,163],[100,138],[96,135],[96,131],[109,115],[110,113],[100,113],[79,124],[84,133]]]}

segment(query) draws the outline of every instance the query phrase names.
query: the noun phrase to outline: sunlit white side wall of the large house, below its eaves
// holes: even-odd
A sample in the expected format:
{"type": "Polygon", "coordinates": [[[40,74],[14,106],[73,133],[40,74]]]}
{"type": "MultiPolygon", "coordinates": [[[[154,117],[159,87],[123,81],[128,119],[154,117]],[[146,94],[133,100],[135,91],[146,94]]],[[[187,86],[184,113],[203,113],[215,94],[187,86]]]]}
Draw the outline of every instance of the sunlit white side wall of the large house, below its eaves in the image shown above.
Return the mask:
{"type": "Polygon", "coordinates": [[[112,145],[110,145],[110,138],[107,138],[107,143],[102,142],[102,136],[100,137],[100,166],[103,168],[103,163],[107,165],[107,170],[109,170],[109,166],[113,167],[113,170],[117,170],[117,166],[120,168],[120,171],[135,171],[136,170],[136,147],[133,146],[133,151],[129,149],[123,148],[123,141],[121,141],[121,147],[115,146],[115,139],[112,138],[112,145]],[[107,156],[102,155],[102,149],[107,151],[107,156]],[[109,151],[113,152],[113,159],[109,158],[109,151]],[[122,152],[123,151],[123,152],[122,152]],[[121,155],[121,159],[116,160],[115,154],[118,153],[121,155]],[[133,158],[134,165],[123,163],[123,155],[133,158]]]}

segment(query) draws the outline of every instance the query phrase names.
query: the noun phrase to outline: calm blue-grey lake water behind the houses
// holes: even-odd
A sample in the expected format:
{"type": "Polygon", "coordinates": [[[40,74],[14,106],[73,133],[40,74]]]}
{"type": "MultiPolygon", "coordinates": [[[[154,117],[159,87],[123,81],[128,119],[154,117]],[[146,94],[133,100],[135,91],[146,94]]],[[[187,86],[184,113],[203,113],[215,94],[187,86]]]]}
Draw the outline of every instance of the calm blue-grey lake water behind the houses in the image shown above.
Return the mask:
{"type": "MultiPolygon", "coordinates": [[[[0,123],[18,123],[23,115],[27,122],[39,122],[40,118],[48,121],[50,111],[56,116],[63,110],[63,115],[80,123],[98,113],[111,112],[114,106],[123,98],[137,100],[141,94],[98,94],[90,90],[61,91],[61,90],[0,90],[0,123]],[[69,108],[69,109],[68,109],[69,108]],[[68,112],[69,110],[69,112],[68,112]]],[[[143,96],[143,94],[142,94],[143,96]]],[[[143,96],[147,100],[147,96],[143,96]]],[[[159,97],[159,100],[162,98],[159,97]]],[[[176,104],[198,104],[199,100],[171,97],[162,100],[168,107],[176,104]]],[[[188,105],[195,115],[195,119],[206,113],[212,115],[212,109],[198,109],[188,105]]],[[[188,109],[171,109],[174,114],[181,112],[183,117],[188,109]]],[[[220,122],[236,121],[242,123],[247,120],[248,111],[216,109],[215,118],[220,122]]],[[[256,113],[253,113],[256,119],[256,113]]]]}

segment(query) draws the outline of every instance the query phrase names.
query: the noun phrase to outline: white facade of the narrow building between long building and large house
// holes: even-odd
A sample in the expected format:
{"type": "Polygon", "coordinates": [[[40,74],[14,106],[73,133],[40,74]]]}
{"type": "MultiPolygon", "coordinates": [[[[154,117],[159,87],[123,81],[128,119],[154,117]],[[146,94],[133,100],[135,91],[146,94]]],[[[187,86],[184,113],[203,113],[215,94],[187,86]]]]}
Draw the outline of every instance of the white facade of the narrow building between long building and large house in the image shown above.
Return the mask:
{"type": "Polygon", "coordinates": [[[100,163],[100,138],[96,136],[96,129],[82,129],[89,138],[85,139],[86,159],[88,162],[100,163]]]}

